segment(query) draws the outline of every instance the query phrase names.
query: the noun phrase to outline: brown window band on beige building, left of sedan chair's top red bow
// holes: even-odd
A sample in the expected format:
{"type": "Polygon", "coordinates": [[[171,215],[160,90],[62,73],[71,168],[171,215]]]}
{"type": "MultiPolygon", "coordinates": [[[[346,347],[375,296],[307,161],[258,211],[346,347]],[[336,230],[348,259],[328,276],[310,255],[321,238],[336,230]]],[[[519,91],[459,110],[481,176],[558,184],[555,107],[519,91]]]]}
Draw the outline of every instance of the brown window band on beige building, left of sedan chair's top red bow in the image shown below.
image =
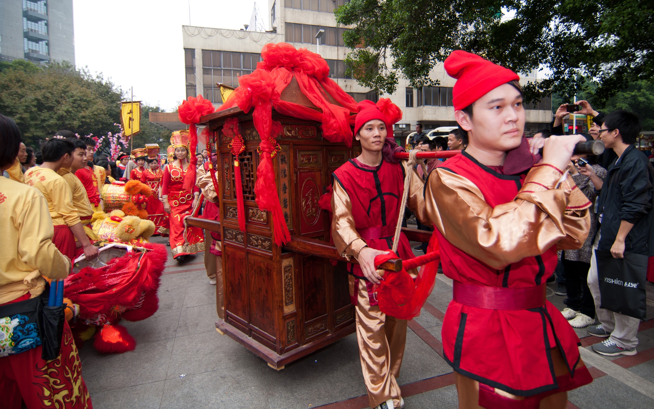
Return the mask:
{"type": "Polygon", "coordinates": [[[220,89],[216,84],[222,83],[236,88],[239,86],[239,76],[252,73],[259,61],[261,61],[261,54],[202,50],[202,83],[205,99],[215,104],[222,103],[220,89]]]}

